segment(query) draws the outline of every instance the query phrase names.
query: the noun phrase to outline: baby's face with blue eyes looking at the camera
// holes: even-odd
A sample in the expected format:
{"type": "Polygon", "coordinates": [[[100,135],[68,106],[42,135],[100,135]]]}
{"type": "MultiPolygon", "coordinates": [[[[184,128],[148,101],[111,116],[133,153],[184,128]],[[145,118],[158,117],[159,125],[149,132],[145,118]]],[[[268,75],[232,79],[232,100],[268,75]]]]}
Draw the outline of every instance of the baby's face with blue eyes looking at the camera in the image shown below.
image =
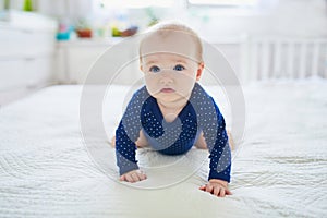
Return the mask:
{"type": "Polygon", "coordinates": [[[141,70],[149,94],[164,101],[189,99],[203,63],[196,60],[196,45],[191,37],[177,33],[166,38],[150,37],[142,49],[141,70]]]}

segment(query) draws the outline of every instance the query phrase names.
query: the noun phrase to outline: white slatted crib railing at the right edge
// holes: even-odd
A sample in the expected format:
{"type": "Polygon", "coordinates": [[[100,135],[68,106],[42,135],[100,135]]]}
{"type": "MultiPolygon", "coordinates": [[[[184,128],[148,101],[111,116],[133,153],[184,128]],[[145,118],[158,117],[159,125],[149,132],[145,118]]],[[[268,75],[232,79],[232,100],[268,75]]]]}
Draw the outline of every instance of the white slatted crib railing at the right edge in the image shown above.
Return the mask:
{"type": "Polygon", "coordinates": [[[243,82],[327,78],[327,38],[244,38],[241,46],[243,82]]]}

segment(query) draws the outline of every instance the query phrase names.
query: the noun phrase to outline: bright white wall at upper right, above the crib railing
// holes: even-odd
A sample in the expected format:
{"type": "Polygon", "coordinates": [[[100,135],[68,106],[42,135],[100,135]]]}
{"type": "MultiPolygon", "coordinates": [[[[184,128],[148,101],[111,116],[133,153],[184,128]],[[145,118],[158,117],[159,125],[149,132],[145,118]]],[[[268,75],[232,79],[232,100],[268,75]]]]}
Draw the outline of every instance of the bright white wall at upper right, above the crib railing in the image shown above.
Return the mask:
{"type": "MultiPolygon", "coordinates": [[[[263,1],[268,2],[268,1],[263,1]]],[[[235,10],[234,15],[223,10],[211,12],[208,21],[194,19],[185,21],[194,25],[207,40],[219,36],[283,35],[298,37],[327,37],[327,8],[325,0],[280,0],[261,4],[251,11],[235,10]]]]}

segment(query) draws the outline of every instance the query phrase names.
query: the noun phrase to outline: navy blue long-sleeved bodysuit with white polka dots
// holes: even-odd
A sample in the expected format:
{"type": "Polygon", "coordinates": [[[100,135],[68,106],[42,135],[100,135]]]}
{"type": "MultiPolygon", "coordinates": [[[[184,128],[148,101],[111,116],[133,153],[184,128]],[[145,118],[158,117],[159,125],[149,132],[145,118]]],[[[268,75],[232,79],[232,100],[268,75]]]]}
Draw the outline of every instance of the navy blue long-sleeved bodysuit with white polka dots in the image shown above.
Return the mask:
{"type": "Polygon", "coordinates": [[[138,169],[135,160],[135,141],[140,130],[143,130],[154,149],[166,155],[186,153],[203,131],[210,153],[208,179],[229,182],[231,153],[225,128],[225,119],[218,106],[197,83],[189,102],[171,123],[165,121],[156,99],[143,87],[132,97],[116,131],[116,154],[120,174],[138,169]]]}

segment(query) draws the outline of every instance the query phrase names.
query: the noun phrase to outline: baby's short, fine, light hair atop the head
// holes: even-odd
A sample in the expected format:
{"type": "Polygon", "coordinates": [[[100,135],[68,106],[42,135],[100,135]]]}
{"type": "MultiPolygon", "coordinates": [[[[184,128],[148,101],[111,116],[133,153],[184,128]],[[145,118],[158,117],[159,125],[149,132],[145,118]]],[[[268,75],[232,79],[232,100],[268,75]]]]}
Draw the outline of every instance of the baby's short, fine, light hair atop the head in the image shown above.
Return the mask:
{"type": "Polygon", "coordinates": [[[142,62],[142,46],[144,44],[144,41],[152,35],[154,34],[158,34],[160,37],[166,38],[167,36],[169,36],[169,32],[170,31],[175,31],[175,32],[180,32],[182,34],[187,34],[192,37],[192,39],[194,40],[196,47],[197,47],[197,53],[196,53],[196,58],[199,62],[203,62],[203,46],[202,46],[202,40],[198,37],[198,35],[189,26],[186,26],[185,24],[182,24],[180,22],[177,21],[169,21],[169,22],[160,22],[158,24],[155,24],[154,26],[149,27],[146,32],[145,32],[145,36],[142,37],[141,41],[140,41],[140,48],[138,48],[138,55],[140,55],[140,61],[142,62]]]}

